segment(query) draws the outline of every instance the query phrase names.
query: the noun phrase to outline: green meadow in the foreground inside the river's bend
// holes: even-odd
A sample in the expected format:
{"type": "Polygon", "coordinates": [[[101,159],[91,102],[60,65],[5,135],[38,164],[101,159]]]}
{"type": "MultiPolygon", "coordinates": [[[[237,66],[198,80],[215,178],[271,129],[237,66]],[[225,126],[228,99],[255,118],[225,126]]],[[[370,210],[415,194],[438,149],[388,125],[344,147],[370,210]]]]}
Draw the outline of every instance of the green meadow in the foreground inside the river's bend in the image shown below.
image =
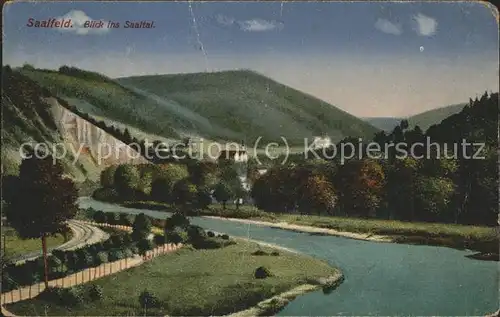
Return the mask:
{"type": "Polygon", "coordinates": [[[181,249],[160,256],[139,267],[120,272],[95,283],[103,287],[100,302],[85,303],[67,309],[32,299],[8,305],[18,315],[69,316],[207,316],[223,315],[252,307],[258,302],[338,271],[326,262],[311,257],[279,251],[278,256],[252,255],[261,249],[255,243],[239,241],[216,250],[181,249]],[[267,267],[273,276],[256,279],[254,270],[267,267]],[[145,312],[139,294],[149,290],[160,307],[145,312]],[[47,308],[45,308],[47,307],[47,308]]]}

